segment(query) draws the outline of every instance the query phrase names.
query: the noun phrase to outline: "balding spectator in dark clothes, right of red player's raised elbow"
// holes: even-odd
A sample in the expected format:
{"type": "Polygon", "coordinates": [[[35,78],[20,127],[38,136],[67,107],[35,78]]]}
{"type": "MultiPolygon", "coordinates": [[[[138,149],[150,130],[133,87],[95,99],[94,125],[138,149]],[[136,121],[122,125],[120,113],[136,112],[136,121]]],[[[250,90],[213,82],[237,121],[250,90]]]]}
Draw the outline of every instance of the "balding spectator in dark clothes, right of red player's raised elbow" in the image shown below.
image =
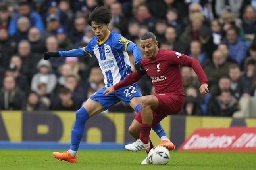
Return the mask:
{"type": "Polygon", "coordinates": [[[216,88],[220,77],[228,76],[230,63],[226,62],[226,60],[221,51],[216,50],[213,52],[212,64],[204,69],[208,79],[209,91],[212,91],[212,88],[216,88]]]}

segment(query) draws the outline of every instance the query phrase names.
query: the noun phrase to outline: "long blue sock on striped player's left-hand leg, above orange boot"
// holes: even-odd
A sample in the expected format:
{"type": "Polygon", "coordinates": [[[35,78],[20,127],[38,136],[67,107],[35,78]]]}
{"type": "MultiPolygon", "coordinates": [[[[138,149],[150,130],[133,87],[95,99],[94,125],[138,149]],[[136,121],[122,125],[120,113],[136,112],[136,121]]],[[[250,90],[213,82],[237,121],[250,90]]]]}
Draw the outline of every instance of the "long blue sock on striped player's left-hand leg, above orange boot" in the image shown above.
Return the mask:
{"type": "Polygon", "coordinates": [[[83,134],[85,132],[85,122],[89,119],[89,115],[84,107],[81,107],[75,113],[75,123],[71,130],[71,146],[70,150],[77,151],[83,134]]]}

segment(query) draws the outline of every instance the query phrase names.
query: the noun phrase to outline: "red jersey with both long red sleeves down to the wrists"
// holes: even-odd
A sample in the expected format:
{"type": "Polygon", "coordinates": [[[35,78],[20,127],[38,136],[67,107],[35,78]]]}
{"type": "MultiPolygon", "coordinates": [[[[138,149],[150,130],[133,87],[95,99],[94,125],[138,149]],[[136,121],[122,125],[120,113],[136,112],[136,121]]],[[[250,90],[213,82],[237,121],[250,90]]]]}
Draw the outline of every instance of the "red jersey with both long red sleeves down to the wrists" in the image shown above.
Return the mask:
{"type": "MultiPolygon", "coordinates": [[[[176,51],[159,49],[154,59],[150,60],[144,57],[141,60],[141,64],[148,76],[151,77],[156,94],[184,95],[180,65],[192,67],[201,85],[208,83],[204,70],[198,60],[176,51]]],[[[135,71],[114,85],[114,89],[135,83],[141,77],[142,75],[135,71]]]]}

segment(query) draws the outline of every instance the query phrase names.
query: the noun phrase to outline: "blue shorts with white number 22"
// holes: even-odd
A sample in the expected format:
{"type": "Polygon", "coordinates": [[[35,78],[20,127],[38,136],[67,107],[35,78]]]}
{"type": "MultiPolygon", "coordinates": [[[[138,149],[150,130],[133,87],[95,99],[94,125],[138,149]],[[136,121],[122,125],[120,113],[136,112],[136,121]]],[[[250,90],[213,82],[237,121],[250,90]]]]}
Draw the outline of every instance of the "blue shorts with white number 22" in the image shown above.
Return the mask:
{"type": "Polygon", "coordinates": [[[105,110],[120,102],[121,100],[125,102],[125,104],[129,105],[129,102],[133,97],[142,96],[137,83],[133,83],[132,85],[117,89],[114,93],[108,94],[107,96],[103,94],[105,90],[106,87],[100,89],[99,91],[96,91],[90,96],[90,99],[100,102],[105,110]]]}

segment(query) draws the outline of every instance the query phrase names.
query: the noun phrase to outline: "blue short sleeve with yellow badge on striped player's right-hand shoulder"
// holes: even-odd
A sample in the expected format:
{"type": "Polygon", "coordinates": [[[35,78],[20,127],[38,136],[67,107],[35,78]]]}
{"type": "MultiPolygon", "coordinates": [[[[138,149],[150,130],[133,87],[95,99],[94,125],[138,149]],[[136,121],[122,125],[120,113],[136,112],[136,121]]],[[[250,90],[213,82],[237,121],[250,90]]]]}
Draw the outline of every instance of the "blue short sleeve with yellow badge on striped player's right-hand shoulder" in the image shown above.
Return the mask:
{"type": "Polygon", "coordinates": [[[127,51],[127,45],[130,43],[130,40],[127,40],[121,34],[112,34],[112,45],[115,49],[121,51],[127,51]]]}

